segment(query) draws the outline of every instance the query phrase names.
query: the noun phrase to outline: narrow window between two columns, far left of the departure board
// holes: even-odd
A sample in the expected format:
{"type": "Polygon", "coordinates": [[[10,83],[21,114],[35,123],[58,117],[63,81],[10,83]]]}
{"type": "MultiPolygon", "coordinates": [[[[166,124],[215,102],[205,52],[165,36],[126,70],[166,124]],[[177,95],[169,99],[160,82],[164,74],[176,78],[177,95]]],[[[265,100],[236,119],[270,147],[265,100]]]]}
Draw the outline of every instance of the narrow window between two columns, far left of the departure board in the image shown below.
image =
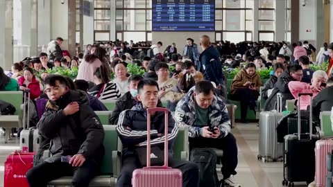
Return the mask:
{"type": "Polygon", "coordinates": [[[94,41],[110,41],[110,0],[94,1],[94,41]]]}

